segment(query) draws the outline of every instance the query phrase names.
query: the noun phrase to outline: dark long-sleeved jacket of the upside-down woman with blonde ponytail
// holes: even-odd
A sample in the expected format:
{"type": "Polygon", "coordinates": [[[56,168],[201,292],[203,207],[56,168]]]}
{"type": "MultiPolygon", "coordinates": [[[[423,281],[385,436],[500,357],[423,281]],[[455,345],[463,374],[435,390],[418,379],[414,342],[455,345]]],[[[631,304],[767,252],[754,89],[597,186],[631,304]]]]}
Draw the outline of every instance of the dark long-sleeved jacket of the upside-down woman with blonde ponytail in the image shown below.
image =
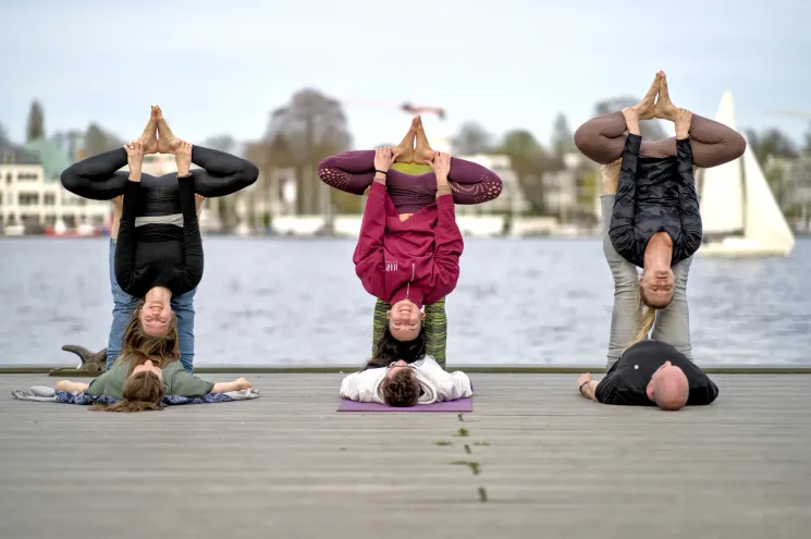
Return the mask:
{"type": "Polygon", "coordinates": [[[701,246],[690,140],[676,140],[676,156],[665,158],[640,158],[641,143],[641,136],[631,134],[625,142],[609,237],[623,258],[642,268],[651,236],[667,232],[675,265],[701,246]]]}

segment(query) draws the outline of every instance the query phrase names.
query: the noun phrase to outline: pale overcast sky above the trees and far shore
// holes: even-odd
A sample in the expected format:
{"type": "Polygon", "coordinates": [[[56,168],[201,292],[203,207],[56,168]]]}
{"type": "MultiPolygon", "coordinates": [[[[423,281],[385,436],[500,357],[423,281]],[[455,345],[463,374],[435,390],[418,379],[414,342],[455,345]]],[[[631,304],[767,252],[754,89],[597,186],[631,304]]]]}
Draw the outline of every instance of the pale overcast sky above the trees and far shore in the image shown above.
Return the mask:
{"type": "MultiPolygon", "coordinates": [[[[192,142],[261,136],[303,87],[346,101],[355,147],[397,142],[395,105],[441,106],[500,135],[549,139],[595,101],[641,96],[664,70],[674,101],[739,127],[811,125],[811,2],[773,0],[0,0],[0,123],[22,140],[33,98],[49,133],[90,121],[125,138],[161,105],[192,142]],[[727,4],[730,8],[722,9],[727,4]],[[662,2],[664,5],[664,2],[662,2]],[[732,8],[732,7],[735,8],[732,8]],[[809,112],[781,118],[770,109],[809,112]]],[[[433,130],[433,131],[431,131],[433,130]]],[[[671,130],[672,131],[672,130],[671,130]]]]}

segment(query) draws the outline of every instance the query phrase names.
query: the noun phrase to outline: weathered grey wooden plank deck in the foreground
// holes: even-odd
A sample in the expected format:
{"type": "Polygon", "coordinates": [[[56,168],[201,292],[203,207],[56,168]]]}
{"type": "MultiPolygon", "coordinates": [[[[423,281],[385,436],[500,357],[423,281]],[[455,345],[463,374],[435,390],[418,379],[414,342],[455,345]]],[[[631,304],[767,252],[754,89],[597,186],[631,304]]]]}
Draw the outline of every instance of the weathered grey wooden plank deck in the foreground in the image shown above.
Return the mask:
{"type": "Polygon", "coordinates": [[[715,404],[665,413],[474,375],[464,420],[339,414],[341,378],[124,415],[15,401],[56,379],[0,376],[0,538],[809,537],[811,376],[716,375],[715,404]]]}

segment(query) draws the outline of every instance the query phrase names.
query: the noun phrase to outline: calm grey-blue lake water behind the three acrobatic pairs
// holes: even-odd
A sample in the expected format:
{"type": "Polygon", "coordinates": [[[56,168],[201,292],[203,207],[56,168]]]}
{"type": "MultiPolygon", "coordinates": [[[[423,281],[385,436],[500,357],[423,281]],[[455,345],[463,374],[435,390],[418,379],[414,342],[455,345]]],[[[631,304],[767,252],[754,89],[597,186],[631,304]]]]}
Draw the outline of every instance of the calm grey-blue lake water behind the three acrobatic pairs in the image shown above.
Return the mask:
{"type": "MultiPolygon", "coordinates": [[[[108,240],[0,238],[0,364],[75,364],[107,345],[108,240]]],[[[355,365],[374,301],[351,240],[207,237],[197,365],[355,365]]],[[[697,259],[696,360],[811,364],[811,241],[788,259],[697,259]]],[[[612,282],[597,240],[468,240],[448,297],[450,362],[604,365],[612,282]]]]}

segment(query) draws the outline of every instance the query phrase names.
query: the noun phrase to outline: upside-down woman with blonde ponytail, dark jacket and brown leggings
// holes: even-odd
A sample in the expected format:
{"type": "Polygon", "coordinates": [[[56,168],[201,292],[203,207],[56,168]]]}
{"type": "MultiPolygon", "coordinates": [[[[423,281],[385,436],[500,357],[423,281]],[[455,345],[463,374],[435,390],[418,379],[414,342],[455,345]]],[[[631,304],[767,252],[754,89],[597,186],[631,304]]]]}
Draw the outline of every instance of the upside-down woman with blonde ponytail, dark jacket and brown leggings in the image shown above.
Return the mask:
{"type": "Polygon", "coordinates": [[[665,74],[659,72],[639,105],[586,122],[575,142],[600,163],[622,158],[609,236],[623,258],[643,269],[639,290],[647,309],[639,335],[628,343],[632,344],[647,336],[656,309],[673,301],[672,267],[701,245],[696,168],[739,158],[746,140],[724,124],[673,105],[665,74]],[[676,137],[642,140],[639,120],[652,118],[674,122],[676,137]]]}

